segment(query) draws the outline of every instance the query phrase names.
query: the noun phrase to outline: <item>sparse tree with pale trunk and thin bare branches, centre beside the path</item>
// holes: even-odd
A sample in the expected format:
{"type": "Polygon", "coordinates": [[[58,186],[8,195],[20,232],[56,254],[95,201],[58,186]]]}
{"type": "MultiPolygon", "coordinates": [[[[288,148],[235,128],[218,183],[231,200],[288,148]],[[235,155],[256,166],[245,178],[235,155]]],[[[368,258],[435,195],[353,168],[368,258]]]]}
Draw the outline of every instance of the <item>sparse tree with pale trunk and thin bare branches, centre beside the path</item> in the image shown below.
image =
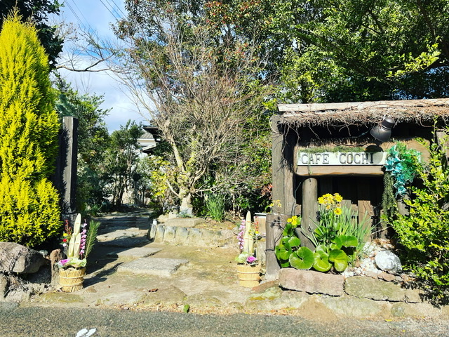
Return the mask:
{"type": "Polygon", "coordinates": [[[128,17],[116,31],[129,44],[126,69],[135,76],[124,81],[140,89],[136,94],[169,145],[173,174],[166,184],[180,211],[192,213],[192,198],[201,192],[242,182],[269,77],[246,41],[208,25],[201,2],[126,4],[128,17]]]}

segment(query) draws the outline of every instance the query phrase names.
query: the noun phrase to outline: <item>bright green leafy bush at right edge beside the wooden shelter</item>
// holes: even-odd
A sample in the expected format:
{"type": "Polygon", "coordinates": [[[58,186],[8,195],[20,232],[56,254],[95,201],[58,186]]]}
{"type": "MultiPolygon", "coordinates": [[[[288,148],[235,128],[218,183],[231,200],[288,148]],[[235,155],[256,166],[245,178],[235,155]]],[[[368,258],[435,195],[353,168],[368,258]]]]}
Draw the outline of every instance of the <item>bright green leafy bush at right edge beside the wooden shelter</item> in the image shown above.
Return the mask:
{"type": "MultiPolygon", "coordinates": [[[[448,131],[443,141],[422,145],[429,150],[427,165],[417,166],[419,187],[404,199],[409,215],[390,219],[403,246],[403,264],[418,278],[434,300],[448,296],[449,289],[449,168],[446,157],[448,131]]],[[[435,139],[436,140],[436,139],[435,139]]]]}

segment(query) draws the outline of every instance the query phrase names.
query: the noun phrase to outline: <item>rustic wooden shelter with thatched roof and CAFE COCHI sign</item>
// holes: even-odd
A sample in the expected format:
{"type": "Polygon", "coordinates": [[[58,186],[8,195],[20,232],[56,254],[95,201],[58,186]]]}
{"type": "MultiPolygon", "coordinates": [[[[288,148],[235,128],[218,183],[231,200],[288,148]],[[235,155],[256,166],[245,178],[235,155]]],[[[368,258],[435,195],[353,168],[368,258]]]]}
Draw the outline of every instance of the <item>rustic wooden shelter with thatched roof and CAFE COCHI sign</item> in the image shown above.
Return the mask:
{"type": "Polygon", "coordinates": [[[311,229],[317,198],[335,192],[359,218],[368,213],[378,223],[386,152],[403,141],[425,159],[416,138],[431,141],[435,122],[448,125],[449,99],[286,104],[279,112],[272,119],[275,211],[301,215],[302,227],[311,229]],[[380,143],[370,130],[385,117],[394,127],[391,139],[380,143]]]}

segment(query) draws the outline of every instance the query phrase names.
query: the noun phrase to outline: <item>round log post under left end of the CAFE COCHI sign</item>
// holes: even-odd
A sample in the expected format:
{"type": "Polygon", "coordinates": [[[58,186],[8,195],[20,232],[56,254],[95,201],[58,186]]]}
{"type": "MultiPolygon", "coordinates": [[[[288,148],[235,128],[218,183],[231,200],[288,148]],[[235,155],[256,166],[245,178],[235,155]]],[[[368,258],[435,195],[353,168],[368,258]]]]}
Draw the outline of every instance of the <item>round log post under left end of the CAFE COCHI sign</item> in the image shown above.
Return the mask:
{"type": "MultiPolygon", "coordinates": [[[[316,212],[318,211],[318,180],[316,178],[305,178],[302,183],[302,220],[301,227],[304,232],[314,232],[316,228],[316,212]]],[[[314,244],[301,235],[301,245],[314,249],[314,244]]]]}

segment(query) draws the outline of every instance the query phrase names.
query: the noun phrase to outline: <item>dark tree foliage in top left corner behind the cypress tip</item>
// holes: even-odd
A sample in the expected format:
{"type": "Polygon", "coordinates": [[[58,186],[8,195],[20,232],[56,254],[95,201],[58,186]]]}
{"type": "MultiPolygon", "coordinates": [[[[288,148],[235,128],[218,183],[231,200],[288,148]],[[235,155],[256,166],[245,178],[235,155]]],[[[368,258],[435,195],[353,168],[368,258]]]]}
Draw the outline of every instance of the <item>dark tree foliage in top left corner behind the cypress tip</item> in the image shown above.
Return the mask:
{"type": "Polygon", "coordinates": [[[49,14],[59,14],[58,0],[0,0],[0,27],[7,16],[17,10],[22,22],[32,20],[36,25],[37,36],[48,55],[51,67],[62,51],[62,39],[55,34],[55,27],[48,25],[49,14]]]}

